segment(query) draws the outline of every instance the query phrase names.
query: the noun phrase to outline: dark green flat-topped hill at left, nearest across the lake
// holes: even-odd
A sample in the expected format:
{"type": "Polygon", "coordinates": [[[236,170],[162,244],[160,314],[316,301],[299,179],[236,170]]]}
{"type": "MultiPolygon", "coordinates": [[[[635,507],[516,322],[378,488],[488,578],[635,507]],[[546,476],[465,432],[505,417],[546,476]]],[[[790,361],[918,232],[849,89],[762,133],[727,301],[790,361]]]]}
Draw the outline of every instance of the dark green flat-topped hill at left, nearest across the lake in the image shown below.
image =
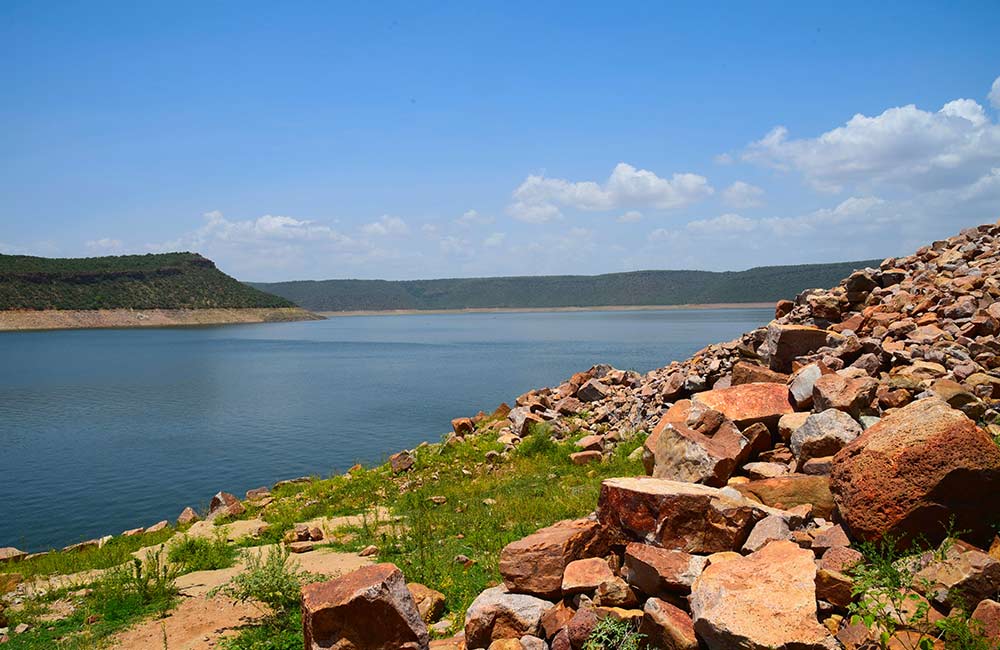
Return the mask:
{"type": "Polygon", "coordinates": [[[0,310],[294,307],[196,253],[53,259],[0,255],[0,310]]]}

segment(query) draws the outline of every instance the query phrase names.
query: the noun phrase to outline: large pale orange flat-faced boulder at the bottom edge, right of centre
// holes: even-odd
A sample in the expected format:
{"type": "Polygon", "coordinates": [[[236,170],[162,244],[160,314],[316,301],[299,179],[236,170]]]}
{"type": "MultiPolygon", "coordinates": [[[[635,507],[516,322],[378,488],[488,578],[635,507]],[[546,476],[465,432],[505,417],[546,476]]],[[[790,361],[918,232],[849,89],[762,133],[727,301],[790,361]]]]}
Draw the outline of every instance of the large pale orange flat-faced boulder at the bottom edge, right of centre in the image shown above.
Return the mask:
{"type": "Polygon", "coordinates": [[[812,552],[790,541],[711,564],[691,590],[694,628],[710,650],[835,647],[816,618],[815,581],[812,552]]]}

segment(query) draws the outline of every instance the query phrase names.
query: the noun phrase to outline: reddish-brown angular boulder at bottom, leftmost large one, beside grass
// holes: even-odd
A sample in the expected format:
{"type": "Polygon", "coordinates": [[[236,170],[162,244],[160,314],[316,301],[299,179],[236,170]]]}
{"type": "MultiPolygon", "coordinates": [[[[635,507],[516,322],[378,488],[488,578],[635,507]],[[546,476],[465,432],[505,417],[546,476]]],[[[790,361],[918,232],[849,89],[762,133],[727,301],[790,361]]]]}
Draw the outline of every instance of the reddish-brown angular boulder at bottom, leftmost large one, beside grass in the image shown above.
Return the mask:
{"type": "Polygon", "coordinates": [[[302,630],[307,650],[426,650],[430,642],[403,572],[393,564],[303,587],[302,630]]]}

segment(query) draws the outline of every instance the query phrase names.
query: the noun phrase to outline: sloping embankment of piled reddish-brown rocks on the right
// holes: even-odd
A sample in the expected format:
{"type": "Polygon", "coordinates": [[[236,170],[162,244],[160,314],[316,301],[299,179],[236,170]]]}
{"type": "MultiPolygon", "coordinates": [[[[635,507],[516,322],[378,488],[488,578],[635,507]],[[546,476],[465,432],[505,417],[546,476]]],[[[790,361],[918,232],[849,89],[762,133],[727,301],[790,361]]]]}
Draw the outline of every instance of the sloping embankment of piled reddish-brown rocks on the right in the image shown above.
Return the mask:
{"type": "Polygon", "coordinates": [[[508,545],[503,584],[458,637],[430,641],[380,564],[305,589],[307,649],[580,650],[608,617],[653,648],[995,647],[998,300],[991,224],[779,302],[767,327],[684,362],[595,367],[488,427],[455,420],[456,437],[513,447],[532,423],[559,437],[587,411],[574,461],[651,430],[650,476],[608,479],[590,517],[508,545]],[[931,550],[892,566],[909,581],[853,569],[865,543],[905,555],[918,540],[931,550]],[[949,625],[986,645],[955,645],[949,625]]]}

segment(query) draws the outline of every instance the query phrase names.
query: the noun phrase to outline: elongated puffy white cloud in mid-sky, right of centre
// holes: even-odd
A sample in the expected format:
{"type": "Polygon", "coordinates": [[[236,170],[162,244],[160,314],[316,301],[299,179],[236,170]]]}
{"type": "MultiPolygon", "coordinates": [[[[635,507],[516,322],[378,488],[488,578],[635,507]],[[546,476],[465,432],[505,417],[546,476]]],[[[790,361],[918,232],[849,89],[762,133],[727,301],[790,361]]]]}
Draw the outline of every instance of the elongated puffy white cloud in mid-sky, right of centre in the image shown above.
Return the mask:
{"type": "Polygon", "coordinates": [[[697,174],[674,174],[669,180],[651,171],[618,163],[608,180],[572,182],[531,175],[514,190],[508,213],[515,219],[544,223],[562,216],[560,206],[587,211],[626,207],[679,208],[712,194],[708,179],[697,174]]]}

